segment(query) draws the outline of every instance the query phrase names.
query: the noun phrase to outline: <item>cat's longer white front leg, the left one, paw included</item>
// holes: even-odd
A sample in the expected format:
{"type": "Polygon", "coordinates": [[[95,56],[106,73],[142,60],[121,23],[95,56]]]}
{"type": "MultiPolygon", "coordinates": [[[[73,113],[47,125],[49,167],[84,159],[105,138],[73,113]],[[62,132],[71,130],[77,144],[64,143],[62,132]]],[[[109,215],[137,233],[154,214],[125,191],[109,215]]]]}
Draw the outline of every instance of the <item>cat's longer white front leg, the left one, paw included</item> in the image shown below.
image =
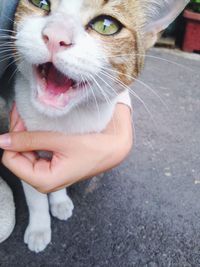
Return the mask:
{"type": "Polygon", "coordinates": [[[29,208],[29,225],[25,231],[24,242],[31,251],[38,253],[51,242],[48,198],[30,185],[24,182],[22,184],[29,208]]]}

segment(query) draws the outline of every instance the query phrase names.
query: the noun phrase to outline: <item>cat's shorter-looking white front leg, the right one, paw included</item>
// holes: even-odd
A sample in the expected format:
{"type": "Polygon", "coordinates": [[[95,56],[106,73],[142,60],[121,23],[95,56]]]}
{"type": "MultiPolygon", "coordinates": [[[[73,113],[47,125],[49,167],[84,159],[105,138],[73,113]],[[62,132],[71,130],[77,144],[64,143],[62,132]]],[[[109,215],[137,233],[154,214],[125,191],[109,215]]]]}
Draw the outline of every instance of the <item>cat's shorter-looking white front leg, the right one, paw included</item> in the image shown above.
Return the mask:
{"type": "Polygon", "coordinates": [[[66,221],[72,216],[74,205],[68,197],[66,189],[50,193],[49,202],[51,213],[54,217],[66,221]]]}

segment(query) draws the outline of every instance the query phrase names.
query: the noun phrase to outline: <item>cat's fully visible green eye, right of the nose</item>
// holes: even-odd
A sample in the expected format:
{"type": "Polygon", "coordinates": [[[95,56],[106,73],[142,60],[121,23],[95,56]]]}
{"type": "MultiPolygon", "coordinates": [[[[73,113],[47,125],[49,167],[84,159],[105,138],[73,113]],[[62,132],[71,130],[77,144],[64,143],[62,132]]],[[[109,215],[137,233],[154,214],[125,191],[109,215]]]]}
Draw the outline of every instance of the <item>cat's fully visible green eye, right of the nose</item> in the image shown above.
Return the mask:
{"type": "Polygon", "coordinates": [[[94,19],[91,23],[91,28],[102,35],[113,35],[118,33],[122,25],[116,19],[109,16],[101,16],[94,19]]]}

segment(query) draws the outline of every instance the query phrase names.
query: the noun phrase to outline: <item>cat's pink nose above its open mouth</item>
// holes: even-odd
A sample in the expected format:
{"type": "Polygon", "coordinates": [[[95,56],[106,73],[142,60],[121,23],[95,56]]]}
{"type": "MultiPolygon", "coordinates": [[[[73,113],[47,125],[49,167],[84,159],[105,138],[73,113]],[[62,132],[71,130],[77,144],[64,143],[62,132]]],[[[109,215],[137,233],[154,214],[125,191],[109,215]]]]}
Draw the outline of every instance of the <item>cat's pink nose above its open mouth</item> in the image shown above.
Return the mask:
{"type": "Polygon", "coordinates": [[[52,54],[72,46],[72,34],[61,25],[47,26],[43,30],[42,37],[52,54]]]}

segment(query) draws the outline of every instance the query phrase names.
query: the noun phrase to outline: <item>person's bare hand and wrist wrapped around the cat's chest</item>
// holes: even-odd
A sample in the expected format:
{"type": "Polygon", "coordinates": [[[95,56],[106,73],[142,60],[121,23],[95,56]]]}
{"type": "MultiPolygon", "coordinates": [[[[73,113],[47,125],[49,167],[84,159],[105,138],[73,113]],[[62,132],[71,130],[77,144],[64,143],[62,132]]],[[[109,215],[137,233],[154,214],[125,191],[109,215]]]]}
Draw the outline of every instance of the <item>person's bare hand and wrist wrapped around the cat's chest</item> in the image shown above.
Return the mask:
{"type": "Polygon", "coordinates": [[[16,106],[10,132],[0,136],[2,163],[21,180],[42,193],[50,193],[88,179],[120,164],[133,144],[130,108],[117,104],[112,120],[101,133],[66,135],[27,132],[16,106]],[[32,151],[52,151],[51,160],[32,151]]]}

